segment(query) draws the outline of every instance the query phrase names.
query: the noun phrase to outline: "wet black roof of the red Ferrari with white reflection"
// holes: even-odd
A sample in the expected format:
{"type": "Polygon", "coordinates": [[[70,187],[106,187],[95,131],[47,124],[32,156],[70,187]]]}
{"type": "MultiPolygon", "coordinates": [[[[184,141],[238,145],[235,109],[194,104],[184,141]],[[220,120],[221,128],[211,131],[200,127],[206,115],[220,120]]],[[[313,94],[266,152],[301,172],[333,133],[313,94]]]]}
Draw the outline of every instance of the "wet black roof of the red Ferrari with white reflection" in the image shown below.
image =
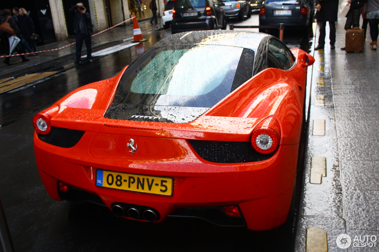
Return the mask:
{"type": "MultiPolygon", "coordinates": [[[[270,35],[257,33],[254,31],[226,31],[226,30],[206,30],[188,31],[168,36],[158,41],[151,47],[167,47],[173,45],[229,45],[233,47],[243,47],[254,52],[263,38],[270,35]]],[[[272,37],[272,36],[270,36],[272,37]]]]}

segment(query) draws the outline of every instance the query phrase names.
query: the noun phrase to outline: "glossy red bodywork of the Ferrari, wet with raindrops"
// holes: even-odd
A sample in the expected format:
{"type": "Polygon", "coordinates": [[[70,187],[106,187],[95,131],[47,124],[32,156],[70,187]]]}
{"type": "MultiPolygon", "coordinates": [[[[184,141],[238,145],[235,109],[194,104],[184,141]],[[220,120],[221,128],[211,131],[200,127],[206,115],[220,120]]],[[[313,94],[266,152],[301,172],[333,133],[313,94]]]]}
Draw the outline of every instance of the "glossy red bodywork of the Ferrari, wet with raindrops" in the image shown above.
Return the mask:
{"type": "MultiPolygon", "coordinates": [[[[80,87],[45,109],[51,126],[85,131],[71,148],[41,141],[34,132],[34,151],[42,182],[50,197],[61,200],[57,180],[113,202],[155,208],[163,221],[177,208],[238,204],[247,228],[268,230],[285,222],[293,194],[308,57],[291,50],[290,70],[267,68],[189,123],[114,120],[103,117],[113,101],[121,73],[80,87]],[[80,92],[80,93],[78,93],[80,92]],[[267,118],[280,124],[280,145],[264,161],[213,163],[202,159],[188,139],[250,141],[267,118]],[[133,138],[143,151],[126,148],[133,138]],[[171,197],[96,186],[96,170],[174,178],[171,197]]],[[[125,217],[129,218],[129,217],[125,217]]]]}

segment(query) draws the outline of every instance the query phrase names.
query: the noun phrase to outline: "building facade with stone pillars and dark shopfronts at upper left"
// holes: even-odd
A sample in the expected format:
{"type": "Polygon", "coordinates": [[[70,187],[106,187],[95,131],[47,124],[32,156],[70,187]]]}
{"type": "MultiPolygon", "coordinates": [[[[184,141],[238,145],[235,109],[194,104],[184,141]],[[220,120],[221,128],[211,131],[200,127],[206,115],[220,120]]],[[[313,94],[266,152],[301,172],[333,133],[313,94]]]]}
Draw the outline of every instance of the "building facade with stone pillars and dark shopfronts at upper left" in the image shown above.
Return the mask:
{"type": "MultiPolygon", "coordinates": [[[[164,9],[164,0],[157,0],[158,16],[164,9]]],[[[0,1],[0,9],[25,8],[34,22],[41,45],[68,39],[74,35],[71,6],[78,2],[91,14],[92,31],[105,30],[136,14],[137,20],[149,19],[152,11],[150,0],[13,0],[0,1]],[[138,8],[140,7],[140,8],[138,8]]]]}

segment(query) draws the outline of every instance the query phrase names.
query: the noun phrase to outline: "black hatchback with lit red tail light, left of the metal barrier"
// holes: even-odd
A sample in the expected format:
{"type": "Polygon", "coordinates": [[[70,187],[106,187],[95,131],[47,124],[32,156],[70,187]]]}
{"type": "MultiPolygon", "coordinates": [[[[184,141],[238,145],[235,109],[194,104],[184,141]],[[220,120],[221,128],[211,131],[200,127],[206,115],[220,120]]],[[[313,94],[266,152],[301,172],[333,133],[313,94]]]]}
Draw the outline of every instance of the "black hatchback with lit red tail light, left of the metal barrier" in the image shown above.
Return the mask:
{"type": "Polygon", "coordinates": [[[218,0],[176,0],[171,32],[226,30],[226,16],[218,0]]]}

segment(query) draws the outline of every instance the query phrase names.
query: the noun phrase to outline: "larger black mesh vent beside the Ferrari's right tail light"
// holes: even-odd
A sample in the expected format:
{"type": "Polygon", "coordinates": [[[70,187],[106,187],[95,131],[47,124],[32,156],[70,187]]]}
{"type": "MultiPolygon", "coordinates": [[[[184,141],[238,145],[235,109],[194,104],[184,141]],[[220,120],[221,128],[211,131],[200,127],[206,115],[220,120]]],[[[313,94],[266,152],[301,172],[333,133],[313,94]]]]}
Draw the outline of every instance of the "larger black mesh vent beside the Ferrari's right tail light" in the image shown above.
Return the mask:
{"type": "Polygon", "coordinates": [[[202,159],[214,163],[247,163],[269,159],[274,155],[261,154],[250,142],[188,140],[202,159]]]}

